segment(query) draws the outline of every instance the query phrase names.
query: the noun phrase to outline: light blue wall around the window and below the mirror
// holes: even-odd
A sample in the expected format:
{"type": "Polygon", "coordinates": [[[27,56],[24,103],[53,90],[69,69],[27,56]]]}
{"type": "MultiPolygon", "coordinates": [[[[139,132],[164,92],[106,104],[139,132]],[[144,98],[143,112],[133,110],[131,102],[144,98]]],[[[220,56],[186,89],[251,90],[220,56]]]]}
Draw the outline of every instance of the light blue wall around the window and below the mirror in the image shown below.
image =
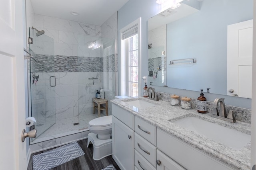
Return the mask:
{"type": "MultiPolygon", "coordinates": [[[[242,0],[240,0],[243,2],[242,0]]],[[[226,0],[222,0],[222,2],[226,2],[226,0]]],[[[147,27],[147,20],[161,12],[161,6],[156,4],[156,0],[129,0],[119,11],[118,11],[118,32],[120,29],[131,23],[132,21],[141,18],[141,54],[142,54],[142,69],[141,74],[142,76],[148,74],[148,27],[147,27]]],[[[119,34],[118,34],[119,36],[119,34]]],[[[120,51],[120,41],[118,39],[118,54],[121,54],[120,51]]],[[[120,55],[119,57],[119,63],[120,63],[120,55]]],[[[118,66],[119,75],[118,79],[120,78],[120,64],[118,66]]],[[[142,81],[142,80],[139,80],[142,81]]],[[[118,82],[118,86],[120,87],[120,81],[118,82]]],[[[160,87],[160,86],[152,86],[155,88],[156,91],[159,92],[165,92],[170,94],[178,94],[180,96],[188,96],[191,98],[197,98],[200,94],[200,92],[190,91],[190,90],[180,90],[175,88],[166,88],[166,87],[160,87]]],[[[140,89],[144,88],[144,85],[142,84],[140,89]]],[[[142,92],[142,90],[141,90],[142,92]]],[[[120,94],[120,91],[118,92],[120,94]]],[[[142,95],[142,94],[140,94],[142,95]]],[[[244,108],[251,108],[251,100],[246,98],[236,98],[232,96],[223,96],[218,94],[206,94],[204,95],[207,100],[214,101],[215,98],[225,98],[225,103],[232,106],[238,106],[238,107],[244,107],[244,108]]]]}

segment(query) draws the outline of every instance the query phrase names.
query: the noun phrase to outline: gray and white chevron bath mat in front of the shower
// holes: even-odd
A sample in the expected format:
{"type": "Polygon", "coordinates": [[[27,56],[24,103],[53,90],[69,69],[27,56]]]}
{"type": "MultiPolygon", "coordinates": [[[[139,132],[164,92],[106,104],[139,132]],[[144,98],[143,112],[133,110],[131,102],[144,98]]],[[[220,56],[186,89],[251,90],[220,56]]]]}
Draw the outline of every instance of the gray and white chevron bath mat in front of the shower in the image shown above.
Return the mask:
{"type": "Polygon", "coordinates": [[[49,170],[70,160],[84,155],[84,151],[77,142],[34,155],[32,157],[33,170],[49,170]]]}

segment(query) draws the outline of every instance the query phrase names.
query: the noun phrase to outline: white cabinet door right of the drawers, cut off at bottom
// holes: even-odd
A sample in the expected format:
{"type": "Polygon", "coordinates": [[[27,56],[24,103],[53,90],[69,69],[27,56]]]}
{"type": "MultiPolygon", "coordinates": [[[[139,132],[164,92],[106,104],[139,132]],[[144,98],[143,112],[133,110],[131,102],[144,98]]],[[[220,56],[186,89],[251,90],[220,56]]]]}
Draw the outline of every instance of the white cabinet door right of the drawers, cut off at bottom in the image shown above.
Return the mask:
{"type": "Polygon", "coordinates": [[[160,150],[156,150],[157,170],[185,170],[174,160],[166,156],[160,150]]]}

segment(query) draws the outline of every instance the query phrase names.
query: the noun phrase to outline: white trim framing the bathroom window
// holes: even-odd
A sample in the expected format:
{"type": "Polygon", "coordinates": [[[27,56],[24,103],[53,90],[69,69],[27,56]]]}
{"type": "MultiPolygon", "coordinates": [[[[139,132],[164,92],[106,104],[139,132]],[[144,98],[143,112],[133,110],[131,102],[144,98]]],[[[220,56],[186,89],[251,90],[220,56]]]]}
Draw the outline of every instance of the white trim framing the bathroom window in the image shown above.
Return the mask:
{"type": "MultiPolygon", "coordinates": [[[[141,76],[141,68],[142,68],[142,66],[141,66],[141,18],[138,18],[137,20],[135,20],[135,21],[133,21],[132,23],[130,23],[130,24],[128,24],[128,25],[126,25],[125,27],[123,27],[122,29],[120,29],[120,31],[119,31],[119,34],[120,34],[120,36],[119,36],[119,41],[120,41],[120,45],[121,45],[121,47],[120,47],[120,49],[121,49],[121,58],[120,58],[120,63],[121,63],[121,66],[122,66],[122,64],[123,64],[123,61],[122,61],[122,55],[123,55],[123,53],[122,53],[122,33],[124,32],[124,31],[126,31],[127,29],[129,29],[130,27],[132,27],[132,26],[134,26],[134,25],[138,25],[138,96],[141,96],[141,90],[140,90],[140,87],[141,87],[141,78],[142,78],[142,76],[141,76]]],[[[122,80],[123,80],[123,72],[122,72],[122,67],[120,68],[120,89],[121,89],[121,94],[120,95],[124,95],[123,94],[123,91],[124,91],[124,89],[123,89],[123,86],[122,86],[122,80]]]]}

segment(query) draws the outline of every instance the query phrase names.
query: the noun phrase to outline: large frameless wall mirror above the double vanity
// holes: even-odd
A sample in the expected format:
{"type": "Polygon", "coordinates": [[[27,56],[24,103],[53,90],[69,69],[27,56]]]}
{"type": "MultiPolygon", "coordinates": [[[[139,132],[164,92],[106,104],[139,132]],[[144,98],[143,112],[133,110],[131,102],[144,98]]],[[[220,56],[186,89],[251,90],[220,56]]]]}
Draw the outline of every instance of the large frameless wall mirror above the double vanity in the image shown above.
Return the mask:
{"type": "Polygon", "coordinates": [[[251,98],[253,0],[184,0],[148,20],[148,84],[251,98]]]}

